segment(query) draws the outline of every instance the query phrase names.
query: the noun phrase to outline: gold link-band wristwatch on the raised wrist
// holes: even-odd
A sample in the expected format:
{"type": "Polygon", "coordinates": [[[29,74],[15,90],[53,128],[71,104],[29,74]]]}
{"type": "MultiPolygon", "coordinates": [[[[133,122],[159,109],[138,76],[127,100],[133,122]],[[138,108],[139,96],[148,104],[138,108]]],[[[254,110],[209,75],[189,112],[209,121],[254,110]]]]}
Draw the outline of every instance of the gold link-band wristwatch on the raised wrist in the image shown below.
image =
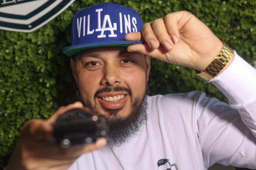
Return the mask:
{"type": "Polygon", "coordinates": [[[204,70],[195,70],[195,72],[204,80],[211,80],[227,65],[233,54],[233,49],[223,43],[222,50],[213,59],[212,63],[210,63],[204,70]]]}

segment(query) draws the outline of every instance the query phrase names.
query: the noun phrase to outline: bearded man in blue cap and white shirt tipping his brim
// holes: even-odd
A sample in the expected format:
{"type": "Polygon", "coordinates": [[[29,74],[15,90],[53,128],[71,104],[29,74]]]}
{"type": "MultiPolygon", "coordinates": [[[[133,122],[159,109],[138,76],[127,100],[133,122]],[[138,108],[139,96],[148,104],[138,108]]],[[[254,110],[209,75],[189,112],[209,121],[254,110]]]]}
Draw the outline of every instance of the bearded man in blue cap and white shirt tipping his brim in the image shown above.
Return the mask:
{"type": "Polygon", "coordinates": [[[133,9],[113,3],[76,13],[63,52],[83,104],[28,121],[6,169],[256,168],[256,70],[189,12],[142,25],[133,9]],[[199,91],[146,96],[149,56],[200,70],[232,108],[199,91]],[[107,140],[59,148],[56,118],[84,105],[106,116],[107,140]]]}

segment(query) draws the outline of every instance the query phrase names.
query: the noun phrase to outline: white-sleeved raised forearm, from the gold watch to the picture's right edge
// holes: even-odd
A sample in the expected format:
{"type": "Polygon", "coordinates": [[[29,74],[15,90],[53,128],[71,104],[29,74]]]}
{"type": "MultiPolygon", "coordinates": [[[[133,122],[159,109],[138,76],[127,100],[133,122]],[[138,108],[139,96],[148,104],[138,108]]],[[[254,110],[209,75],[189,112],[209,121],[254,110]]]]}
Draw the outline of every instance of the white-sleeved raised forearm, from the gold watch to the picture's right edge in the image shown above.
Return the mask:
{"type": "Polygon", "coordinates": [[[239,111],[242,120],[256,136],[256,70],[235,52],[233,62],[212,82],[239,111]]]}

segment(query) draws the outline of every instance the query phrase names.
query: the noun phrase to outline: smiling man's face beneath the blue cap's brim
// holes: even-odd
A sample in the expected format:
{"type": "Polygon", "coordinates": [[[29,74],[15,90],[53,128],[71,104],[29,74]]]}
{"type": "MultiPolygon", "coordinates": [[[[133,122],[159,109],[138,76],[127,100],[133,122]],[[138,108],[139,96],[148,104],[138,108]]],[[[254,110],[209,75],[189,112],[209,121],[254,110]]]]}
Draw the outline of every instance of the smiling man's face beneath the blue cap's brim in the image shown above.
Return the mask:
{"type": "Polygon", "coordinates": [[[82,51],[71,59],[73,75],[84,103],[108,120],[125,119],[142,101],[150,57],[124,47],[82,51]]]}

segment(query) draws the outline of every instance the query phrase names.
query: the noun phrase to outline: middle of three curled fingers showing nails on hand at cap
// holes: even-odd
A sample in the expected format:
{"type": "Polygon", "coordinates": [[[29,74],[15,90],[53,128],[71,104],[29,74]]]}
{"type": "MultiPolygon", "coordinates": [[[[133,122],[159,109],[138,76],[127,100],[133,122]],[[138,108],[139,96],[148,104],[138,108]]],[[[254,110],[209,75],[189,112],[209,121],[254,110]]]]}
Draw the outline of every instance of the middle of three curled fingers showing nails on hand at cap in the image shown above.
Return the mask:
{"type": "Polygon", "coordinates": [[[157,37],[158,41],[164,47],[164,49],[168,52],[173,48],[173,42],[167,32],[165,27],[164,19],[158,18],[155,19],[152,23],[152,29],[157,37]]]}

